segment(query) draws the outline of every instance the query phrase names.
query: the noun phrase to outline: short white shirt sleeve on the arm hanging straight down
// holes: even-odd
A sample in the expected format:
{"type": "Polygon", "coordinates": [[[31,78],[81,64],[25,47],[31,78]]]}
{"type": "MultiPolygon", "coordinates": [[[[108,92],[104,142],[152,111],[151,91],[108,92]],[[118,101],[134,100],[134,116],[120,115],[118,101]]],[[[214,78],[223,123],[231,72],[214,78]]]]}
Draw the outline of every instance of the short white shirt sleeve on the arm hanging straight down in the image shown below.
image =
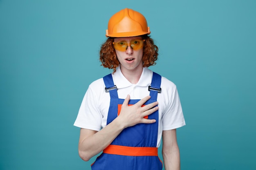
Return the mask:
{"type": "Polygon", "coordinates": [[[162,114],[162,122],[163,130],[180,128],[186,124],[176,86],[171,97],[169,97],[167,108],[162,114]]]}

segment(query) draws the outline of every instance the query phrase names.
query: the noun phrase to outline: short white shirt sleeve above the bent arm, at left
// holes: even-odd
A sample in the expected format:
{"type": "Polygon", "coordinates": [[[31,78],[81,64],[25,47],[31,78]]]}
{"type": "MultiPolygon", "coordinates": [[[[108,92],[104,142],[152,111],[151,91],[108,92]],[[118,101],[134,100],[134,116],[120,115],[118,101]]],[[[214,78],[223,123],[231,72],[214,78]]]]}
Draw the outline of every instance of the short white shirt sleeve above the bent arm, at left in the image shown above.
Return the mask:
{"type": "Polygon", "coordinates": [[[90,85],[83,97],[74,126],[97,131],[101,129],[102,115],[97,101],[98,97],[93,93],[90,85]]]}

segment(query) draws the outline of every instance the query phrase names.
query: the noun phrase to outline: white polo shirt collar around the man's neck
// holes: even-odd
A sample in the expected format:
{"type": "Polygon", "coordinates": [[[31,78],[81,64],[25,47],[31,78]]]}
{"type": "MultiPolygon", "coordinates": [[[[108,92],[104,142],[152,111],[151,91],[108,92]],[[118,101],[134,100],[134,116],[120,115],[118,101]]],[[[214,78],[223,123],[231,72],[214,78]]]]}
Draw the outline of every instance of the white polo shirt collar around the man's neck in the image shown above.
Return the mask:
{"type": "Polygon", "coordinates": [[[143,68],[141,76],[139,78],[139,82],[137,84],[130,83],[126,77],[121,72],[120,65],[117,67],[117,71],[112,73],[114,84],[117,88],[125,88],[132,85],[146,87],[151,84],[153,72],[150,71],[147,67],[143,68]]]}

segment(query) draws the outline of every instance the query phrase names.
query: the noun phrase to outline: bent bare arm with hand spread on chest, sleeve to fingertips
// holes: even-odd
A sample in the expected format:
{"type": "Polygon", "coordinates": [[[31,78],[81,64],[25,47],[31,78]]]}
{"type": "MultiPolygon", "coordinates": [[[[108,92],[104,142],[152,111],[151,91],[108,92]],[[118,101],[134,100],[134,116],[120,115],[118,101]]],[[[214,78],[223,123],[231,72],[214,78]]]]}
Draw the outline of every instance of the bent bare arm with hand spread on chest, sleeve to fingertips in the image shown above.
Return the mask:
{"type": "Polygon", "coordinates": [[[104,150],[111,142],[124,130],[124,128],[140,123],[154,123],[154,119],[145,119],[144,116],[154,113],[158,107],[154,107],[158,102],[153,102],[141,107],[150,96],[144,97],[132,106],[128,106],[130,96],[128,95],[121,106],[121,112],[110,124],[99,132],[83,129],[80,132],[79,156],[88,161],[94,155],[104,150]]]}

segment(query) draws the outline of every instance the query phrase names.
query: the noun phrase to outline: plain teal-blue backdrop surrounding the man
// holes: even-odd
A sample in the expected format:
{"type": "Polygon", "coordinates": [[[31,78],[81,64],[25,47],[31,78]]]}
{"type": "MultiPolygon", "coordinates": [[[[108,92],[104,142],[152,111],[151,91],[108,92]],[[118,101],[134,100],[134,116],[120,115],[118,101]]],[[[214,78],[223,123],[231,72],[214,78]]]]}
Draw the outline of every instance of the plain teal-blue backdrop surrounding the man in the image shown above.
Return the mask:
{"type": "Polygon", "coordinates": [[[90,169],[73,123],[126,7],[159,47],[150,69],[178,87],[181,169],[255,170],[255,0],[0,0],[0,170],[90,169]]]}

